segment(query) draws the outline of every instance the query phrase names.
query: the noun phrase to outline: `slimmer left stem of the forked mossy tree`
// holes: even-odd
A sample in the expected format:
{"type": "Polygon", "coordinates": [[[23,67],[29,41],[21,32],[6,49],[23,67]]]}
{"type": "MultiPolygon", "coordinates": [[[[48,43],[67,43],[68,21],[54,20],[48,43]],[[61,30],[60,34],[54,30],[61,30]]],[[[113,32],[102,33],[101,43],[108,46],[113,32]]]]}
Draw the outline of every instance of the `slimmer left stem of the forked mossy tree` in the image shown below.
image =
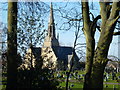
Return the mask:
{"type": "MultiPolygon", "coordinates": [[[[86,0],[87,1],[87,0],[86,0]]],[[[90,28],[90,16],[89,16],[89,6],[88,2],[82,2],[82,16],[83,16],[83,31],[86,38],[86,63],[85,63],[85,81],[84,81],[84,90],[89,88],[89,81],[91,76],[91,69],[94,57],[94,31],[90,28]]]]}

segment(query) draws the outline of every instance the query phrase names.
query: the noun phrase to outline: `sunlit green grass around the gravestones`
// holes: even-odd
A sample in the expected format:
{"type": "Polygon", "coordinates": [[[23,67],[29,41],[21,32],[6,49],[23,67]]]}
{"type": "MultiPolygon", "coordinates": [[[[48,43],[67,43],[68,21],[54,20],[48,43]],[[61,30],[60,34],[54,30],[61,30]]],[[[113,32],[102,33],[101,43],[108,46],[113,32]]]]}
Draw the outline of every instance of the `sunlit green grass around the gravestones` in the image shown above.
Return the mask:
{"type": "MultiPolygon", "coordinates": [[[[69,87],[72,90],[76,90],[76,89],[80,90],[83,88],[83,81],[84,81],[85,72],[84,71],[77,71],[77,72],[78,72],[78,75],[81,75],[80,79],[76,78],[74,76],[74,73],[72,73],[73,76],[70,78],[69,87]]],[[[59,78],[57,77],[57,73],[54,74],[54,77],[56,79],[58,79],[60,82],[58,87],[61,87],[62,89],[64,89],[65,85],[66,85],[66,82],[65,82],[66,71],[60,71],[59,74],[62,75],[62,77],[59,77],[59,78]]],[[[116,76],[120,76],[120,73],[117,73],[116,76]]],[[[4,81],[5,81],[5,79],[4,79],[4,81]]],[[[118,84],[118,83],[120,83],[120,80],[112,80],[112,77],[110,76],[108,81],[104,81],[104,90],[113,90],[113,88],[116,88],[115,90],[120,90],[120,84],[118,84]]],[[[1,84],[2,84],[2,82],[0,82],[0,90],[1,90],[2,86],[5,87],[5,85],[1,85],[1,84]]]]}

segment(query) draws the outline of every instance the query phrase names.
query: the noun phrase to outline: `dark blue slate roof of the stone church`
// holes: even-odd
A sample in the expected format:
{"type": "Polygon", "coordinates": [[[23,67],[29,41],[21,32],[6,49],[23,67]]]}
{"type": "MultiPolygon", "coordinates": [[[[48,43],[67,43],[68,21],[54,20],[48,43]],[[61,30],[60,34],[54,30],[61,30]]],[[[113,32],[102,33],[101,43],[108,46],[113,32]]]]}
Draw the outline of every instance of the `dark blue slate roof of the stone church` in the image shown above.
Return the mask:
{"type": "MultiPolygon", "coordinates": [[[[65,46],[54,46],[52,47],[56,57],[58,58],[58,60],[63,60],[65,63],[68,63],[68,55],[72,55],[73,52],[73,48],[72,47],[65,47],[65,46]]],[[[41,55],[41,48],[40,47],[33,47],[32,48],[32,52],[35,56],[35,58],[40,59],[40,55],[41,55]]],[[[75,60],[79,61],[78,56],[75,55],[75,60]]]]}

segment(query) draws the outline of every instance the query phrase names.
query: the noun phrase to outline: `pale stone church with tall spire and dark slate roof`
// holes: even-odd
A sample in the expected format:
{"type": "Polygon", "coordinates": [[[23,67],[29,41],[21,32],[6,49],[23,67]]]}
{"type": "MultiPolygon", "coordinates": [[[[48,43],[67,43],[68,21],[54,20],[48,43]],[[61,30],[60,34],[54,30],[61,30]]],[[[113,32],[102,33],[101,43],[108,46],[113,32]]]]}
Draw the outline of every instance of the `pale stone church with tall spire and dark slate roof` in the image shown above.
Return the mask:
{"type": "Polygon", "coordinates": [[[50,17],[48,22],[48,33],[45,37],[43,46],[41,48],[32,47],[26,54],[25,67],[29,68],[30,57],[29,53],[32,53],[32,66],[35,66],[35,62],[39,60],[40,56],[43,58],[42,68],[49,68],[55,70],[67,70],[71,66],[71,60],[73,58],[73,69],[79,69],[79,58],[75,53],[73,47],[60,46],[58,38],[56,38],[55,23],[53,15],[53,5],[50,6],[50,17]],[[29,64],[28,64],[29,63],[29,64]]]}

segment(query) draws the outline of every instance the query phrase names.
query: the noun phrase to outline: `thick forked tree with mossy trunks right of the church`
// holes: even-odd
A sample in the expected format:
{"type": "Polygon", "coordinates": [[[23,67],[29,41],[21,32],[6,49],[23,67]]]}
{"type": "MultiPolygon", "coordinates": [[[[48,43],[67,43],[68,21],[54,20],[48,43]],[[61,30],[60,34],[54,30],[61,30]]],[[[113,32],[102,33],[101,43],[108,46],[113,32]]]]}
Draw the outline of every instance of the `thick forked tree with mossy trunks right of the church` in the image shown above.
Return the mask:
{"type": "MultiPolygon", "coordinates": [[[[99,88],[103,89],[104,69],[109,61],[107,59],[108,50],[112,37],[115,34],[115,26],[119,19],[120,2],[100,2],[100,15],[93,21],[89,16],[88,0],[82,2],[83,31],[86,37],[86,75],[84,89],[99,88]],[[100,37],[95,49],[94,34],[97,27],[97,20],[102,20],[99,27],[100,37]]],[[[119,33],[118,33],[119,34],[119,33]]]]}

